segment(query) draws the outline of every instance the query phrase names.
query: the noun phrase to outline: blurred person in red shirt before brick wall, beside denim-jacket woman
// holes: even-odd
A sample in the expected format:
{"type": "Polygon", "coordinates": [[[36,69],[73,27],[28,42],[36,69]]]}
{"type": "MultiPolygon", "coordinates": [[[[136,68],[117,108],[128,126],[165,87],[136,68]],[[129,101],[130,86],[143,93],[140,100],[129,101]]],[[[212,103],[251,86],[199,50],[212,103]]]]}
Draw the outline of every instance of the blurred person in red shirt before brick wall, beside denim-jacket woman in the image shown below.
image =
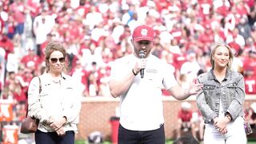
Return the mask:
{"type": "Polygon", "coordinates": [[[177,137],[179,138],[182,131],[186,132],[191,129],[192,110],[189,102],[182,102],[182,109],[178,111],[177,137]]]}

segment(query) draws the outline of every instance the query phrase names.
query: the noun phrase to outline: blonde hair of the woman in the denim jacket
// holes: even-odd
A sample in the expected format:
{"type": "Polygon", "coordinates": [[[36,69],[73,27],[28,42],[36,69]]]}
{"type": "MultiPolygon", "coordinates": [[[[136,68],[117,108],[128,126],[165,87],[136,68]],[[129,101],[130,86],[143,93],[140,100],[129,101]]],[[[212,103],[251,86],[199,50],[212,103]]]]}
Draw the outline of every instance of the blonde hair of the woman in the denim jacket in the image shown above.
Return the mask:
{"type": "Polygon", "coordinates": [[[229,59],[230,59],[230,61],[228,62],[227,67],[228,67],[230,70],[232,70],[231,66],[232,66],[232,62],[233,62],[233,58],[234,58],[234,51],[232,50],[232,48],[231,48],[230,46],[228,46],[228,45],[226,45],[226,44],[222,44],[222,43],[219,43],[218,45],[214,46],[213,50],[211,50],[211,52],[210,52],[210,64],[211,64],[211,66],[212,66],[213,69],[214,69],[214,58],[213,58],[213,56],[214,56],[214,54],[215,54],[216,49],[217,49],[219,46],[224,46],[224,47],[227,48],[227,50],[229,50],[229,54],[230,54],[230,58],[229,58],[229,59]]]}

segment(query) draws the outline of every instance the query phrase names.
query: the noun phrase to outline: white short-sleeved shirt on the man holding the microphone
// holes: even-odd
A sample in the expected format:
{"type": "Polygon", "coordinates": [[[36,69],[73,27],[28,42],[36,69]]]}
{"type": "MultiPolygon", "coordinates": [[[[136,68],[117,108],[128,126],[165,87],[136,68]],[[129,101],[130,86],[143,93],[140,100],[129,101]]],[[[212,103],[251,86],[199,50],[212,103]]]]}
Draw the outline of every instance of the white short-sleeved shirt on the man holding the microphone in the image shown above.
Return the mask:
{"type": "MultiPolygon", "coordinates": [[[[134,54],[118,58],[111,70],[111,79],[122,79],[134,68],[134,54]]],[[[150,54],[146,61],[144,78],[138,74],[130,89],[120,96],[120,123],[128,130],[156,130],[164,122],[162,88],[178,84],[169,66],[150,54]]]]}

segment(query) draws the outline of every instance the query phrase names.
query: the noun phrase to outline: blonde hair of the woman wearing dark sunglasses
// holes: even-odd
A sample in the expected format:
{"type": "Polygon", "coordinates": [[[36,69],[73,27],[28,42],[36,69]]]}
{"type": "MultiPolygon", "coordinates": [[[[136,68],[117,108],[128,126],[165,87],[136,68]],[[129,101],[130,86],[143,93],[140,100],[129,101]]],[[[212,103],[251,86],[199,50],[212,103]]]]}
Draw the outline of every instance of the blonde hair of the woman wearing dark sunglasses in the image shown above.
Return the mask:
{"type": "Polygon", "coordinates": [[[66,58],[66,49],[64,48],[61,42],[49,42],[45,50],[46,72],[49,72],[50,70],[50,66],[49,66],[50,54],[52,54],[54,51],[60,51],[63,54],[63,57],[66,58]]]}

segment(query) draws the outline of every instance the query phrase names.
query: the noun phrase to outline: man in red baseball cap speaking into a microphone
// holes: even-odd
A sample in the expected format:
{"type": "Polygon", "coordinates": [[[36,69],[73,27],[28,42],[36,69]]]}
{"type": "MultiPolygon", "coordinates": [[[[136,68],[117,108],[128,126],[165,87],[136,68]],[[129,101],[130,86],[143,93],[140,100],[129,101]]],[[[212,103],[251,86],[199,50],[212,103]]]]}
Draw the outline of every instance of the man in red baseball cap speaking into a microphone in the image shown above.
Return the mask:
{"type": "Polygon", "coordinates": [[[111,65],[110,93],[120,97],[118,144],[165,144],[161,87],[178,100],[197,94],[198,87],[182,90],[169,65],[151,54],[154,30],[150,26],[136,27],[131,44],[134,53],[111,65]]]}

